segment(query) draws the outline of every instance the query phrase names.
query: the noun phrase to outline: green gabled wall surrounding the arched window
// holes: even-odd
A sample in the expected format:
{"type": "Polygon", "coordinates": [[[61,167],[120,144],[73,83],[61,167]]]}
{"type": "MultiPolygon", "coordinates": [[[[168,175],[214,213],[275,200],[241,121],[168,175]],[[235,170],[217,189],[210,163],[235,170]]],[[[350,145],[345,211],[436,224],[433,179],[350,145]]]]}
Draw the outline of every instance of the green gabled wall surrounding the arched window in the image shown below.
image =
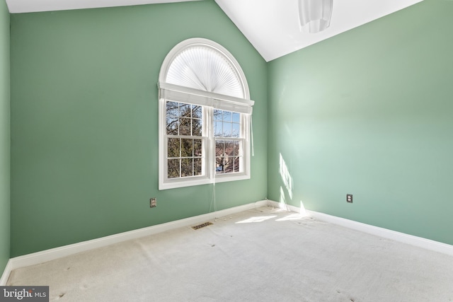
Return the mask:
{"type": "Polygon", "coordinates": [[[214,1],[11,14],[11,257],[212,209],[212,185],[158,190],[156,83],[190,37],[226,47],[256,101],[251,180],[216,207],[265,199],[267,66],[214,1]]]}

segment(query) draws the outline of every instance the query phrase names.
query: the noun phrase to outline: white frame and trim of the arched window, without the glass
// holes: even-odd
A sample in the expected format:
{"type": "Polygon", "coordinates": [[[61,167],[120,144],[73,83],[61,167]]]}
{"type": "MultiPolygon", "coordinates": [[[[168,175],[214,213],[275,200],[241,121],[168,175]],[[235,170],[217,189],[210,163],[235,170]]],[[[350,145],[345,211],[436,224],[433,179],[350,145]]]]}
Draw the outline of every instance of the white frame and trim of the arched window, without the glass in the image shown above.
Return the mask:
{"type": "Polygon", "coordinates": [[[251,178],[251,113],[253,100],[249,98],[248,84],[245,74],[239,63],[234,57],[221,45],[202,38],[188,39],[180,42],[167,54],[161,66],[159,74],[159,190],[173,189],[178,187],[189,187],[194,185],[206,185],[214,182],[228,182],[234,180],[246,180],[251,178]],[[243,87],[243,95],[246,98],[235,98],[229,95],[212,93],[210,91],[201,91],[194,88],[178,86],[166,83],[166,74],[173,59],[188,47],[203,45],[212,47],[224,57],[229,59],[231,66],[236,69],[243,87]],[[187,178],[168,178],[167,159],[166,159],[166,100],[172,100],[181,103],[192,103],[203,105],[203,120],[207,129],[203,129],[203,137],[207,144],[205,148],[205,174],[202,176],[190,176],[187,178]],[[243,171],[241,173],[224,173],[215,172],[215,138],[214,127],[212,122],[214,108],[241,113],[241,137],[243,139],[243,171]]]}

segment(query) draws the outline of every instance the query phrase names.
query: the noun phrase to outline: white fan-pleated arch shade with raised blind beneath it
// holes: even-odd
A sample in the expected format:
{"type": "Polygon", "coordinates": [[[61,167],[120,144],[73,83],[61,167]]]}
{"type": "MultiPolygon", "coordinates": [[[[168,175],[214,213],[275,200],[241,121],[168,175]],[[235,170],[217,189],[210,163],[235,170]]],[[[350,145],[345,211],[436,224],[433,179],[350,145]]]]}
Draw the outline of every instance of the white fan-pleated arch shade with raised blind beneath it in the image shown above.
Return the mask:
{"type": "Polygon", "coordinates": [[[168,53],[159,75],[159,97],[251,114],[254,102],[236,59],[221,45],[212,47],[212,41],[187,41],[187,47],[168,53]]]}

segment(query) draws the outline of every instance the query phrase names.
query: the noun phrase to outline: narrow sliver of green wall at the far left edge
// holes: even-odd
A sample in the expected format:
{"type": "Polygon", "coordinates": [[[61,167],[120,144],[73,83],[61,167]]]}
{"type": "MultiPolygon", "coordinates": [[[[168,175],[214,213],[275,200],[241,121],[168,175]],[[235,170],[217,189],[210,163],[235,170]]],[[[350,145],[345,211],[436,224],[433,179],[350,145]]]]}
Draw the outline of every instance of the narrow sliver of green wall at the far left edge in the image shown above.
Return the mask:
{"type": "Polygon", "coordinates": [[[9,259],[10,228],[9,13],[0,0],[0,276],[9,259]]]}

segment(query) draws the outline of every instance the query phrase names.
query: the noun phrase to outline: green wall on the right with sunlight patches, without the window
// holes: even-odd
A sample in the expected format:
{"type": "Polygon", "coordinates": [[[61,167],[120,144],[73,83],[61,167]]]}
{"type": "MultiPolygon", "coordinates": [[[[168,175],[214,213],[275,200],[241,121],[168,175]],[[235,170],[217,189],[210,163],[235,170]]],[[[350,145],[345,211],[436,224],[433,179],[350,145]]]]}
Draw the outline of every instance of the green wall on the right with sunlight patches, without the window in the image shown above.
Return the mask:
{"type": "Polygon", "coordinates": [[[453,244],[452,16],[426,0],[270,62],[269,198],[453,244]]]}

